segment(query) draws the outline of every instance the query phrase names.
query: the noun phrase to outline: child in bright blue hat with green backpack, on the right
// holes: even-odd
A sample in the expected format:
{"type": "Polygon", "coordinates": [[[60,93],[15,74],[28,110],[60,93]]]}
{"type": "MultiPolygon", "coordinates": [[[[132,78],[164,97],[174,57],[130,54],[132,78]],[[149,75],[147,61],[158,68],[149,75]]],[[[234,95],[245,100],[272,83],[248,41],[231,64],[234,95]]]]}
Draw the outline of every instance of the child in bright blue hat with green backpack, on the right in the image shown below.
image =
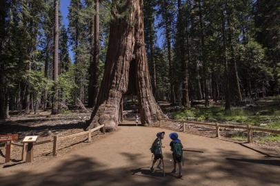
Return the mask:
{"type": "Polygon", "coordinates": [[[172,132],[169,134],[169,137],[172,139],[170,142],[170,147],[172,151],[172,157],[173,157],[173,165],[174,169],[171,173],[176,173],[176,165],[178,164],[179,167],[179,178],[181,178],[182,175],[182,166],[181,161],[183,159],[183,145],[181,144],[181,141],[178,138],[178,134],[176,132],[172,132]]]}

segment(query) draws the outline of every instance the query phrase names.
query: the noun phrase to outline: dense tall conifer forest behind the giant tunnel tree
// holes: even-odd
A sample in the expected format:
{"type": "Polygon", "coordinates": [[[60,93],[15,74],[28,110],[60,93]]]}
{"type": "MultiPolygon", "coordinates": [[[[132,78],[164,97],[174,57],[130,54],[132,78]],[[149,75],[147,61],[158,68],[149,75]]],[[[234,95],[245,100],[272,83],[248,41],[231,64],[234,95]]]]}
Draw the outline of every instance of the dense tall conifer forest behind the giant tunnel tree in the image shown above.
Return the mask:
{"type": "MultiPolygon", "coordinates": [[[[58,112],[70,105],[96,104],[113,21],[111,8],[124,1],[71,0],[68,27],[61,21],[61,12],[55,11],[56,2],[61,3],[0,2],[1,119],[12,111],[48,110],[54,96],[58,112]],[[54,32],[55,25],[59,32],[54,32]]],[[[206,107],[221,102],[230,110],[278,95],[279,7],[277,0],[143,1],[154,98],[186,108],[196,101],[206,107]]]]}

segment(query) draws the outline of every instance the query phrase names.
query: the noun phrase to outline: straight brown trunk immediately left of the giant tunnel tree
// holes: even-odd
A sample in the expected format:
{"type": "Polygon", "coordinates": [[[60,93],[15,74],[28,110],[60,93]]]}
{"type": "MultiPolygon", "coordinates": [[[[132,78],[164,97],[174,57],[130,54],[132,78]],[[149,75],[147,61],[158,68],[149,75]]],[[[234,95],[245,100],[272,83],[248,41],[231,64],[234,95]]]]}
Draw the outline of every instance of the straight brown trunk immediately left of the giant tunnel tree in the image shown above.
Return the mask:
{"type": "Polygon", "coordinates": [[[99,64],[99,0],[94,0],[95,15],[92,17],[91,32],[91,56],[90,56],[90,83],[88,85],[88,106],[96,104],[98,87],[98,64],[99,64]]]}

